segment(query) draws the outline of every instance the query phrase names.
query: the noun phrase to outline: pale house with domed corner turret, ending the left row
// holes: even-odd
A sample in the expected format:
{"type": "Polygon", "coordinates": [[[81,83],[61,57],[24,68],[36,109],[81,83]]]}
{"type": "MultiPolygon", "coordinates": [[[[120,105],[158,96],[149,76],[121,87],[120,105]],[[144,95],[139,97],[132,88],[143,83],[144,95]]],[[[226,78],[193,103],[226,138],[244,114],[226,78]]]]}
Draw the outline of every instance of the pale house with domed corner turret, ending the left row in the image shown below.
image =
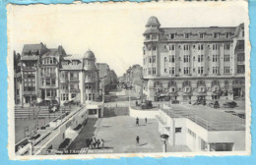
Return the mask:
{"type": "Polygon", "coordinates": [[[61,61],[60,103],[75,100],[79,103],[97,101],[99,78],[95,54],[89,50],[83,59],[72,56],[61,61]]]}

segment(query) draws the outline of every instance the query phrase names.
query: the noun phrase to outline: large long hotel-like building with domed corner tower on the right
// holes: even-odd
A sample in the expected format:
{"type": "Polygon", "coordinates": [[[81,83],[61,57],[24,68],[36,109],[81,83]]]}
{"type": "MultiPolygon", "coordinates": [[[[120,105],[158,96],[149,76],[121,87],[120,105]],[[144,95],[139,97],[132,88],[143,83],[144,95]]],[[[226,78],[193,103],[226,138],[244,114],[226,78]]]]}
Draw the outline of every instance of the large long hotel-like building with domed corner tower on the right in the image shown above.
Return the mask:
{"type": "Polygon", "coordinates": [[[144,93],[150,100],[195,101],[244,96],[244,24],[238,27],[160,27],[143,33],[144,93]]]}

